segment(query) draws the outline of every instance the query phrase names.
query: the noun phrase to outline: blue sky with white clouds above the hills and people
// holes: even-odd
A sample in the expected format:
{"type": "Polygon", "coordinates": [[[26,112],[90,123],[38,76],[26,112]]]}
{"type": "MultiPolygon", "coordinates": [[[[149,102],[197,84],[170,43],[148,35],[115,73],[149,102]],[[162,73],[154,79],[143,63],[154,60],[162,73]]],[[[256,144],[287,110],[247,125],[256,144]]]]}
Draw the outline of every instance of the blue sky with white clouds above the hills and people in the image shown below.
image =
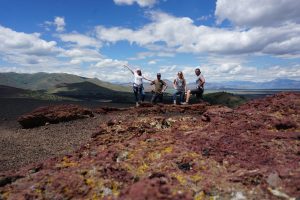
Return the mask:
{"type": "Polygon", "coordinates": [[[300,80],[298,0],[0,0],[0,72],[300,80]]]}

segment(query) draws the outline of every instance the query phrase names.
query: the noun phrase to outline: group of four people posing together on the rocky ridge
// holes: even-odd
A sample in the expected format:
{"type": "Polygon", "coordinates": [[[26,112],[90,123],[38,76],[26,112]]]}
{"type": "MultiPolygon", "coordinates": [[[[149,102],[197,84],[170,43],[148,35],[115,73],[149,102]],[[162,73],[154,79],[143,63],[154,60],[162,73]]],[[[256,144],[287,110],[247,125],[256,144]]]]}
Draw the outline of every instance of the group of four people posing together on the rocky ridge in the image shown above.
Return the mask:
{"type": "MultiPolygon", "coordinates": [[[[147,80],[153,86],[153,95],[151,103],[156,104],[157,102],[163,102],[163,93],[168,88],[165,81],[161,79],[161,74],[157,73],[156,80],[150,80],[142,75],[141,69],[133,70],[129,66],[124,65],[134,75],[133,81],[133,93],[135,96],[136,106],[140,105],[140,102],[145,100],[145,92],[143,87],[143,80],[147,80]]],[[[177,95],[179,95],[179,104],[188,104],[191,95],[195,94],[197,98],[201,98],[204,92],[205,79],[201,74],[199,68],[195,69],[196,81],[193,89],[188,89],[187,82],[184,78],[182,71],[177,73],[177,77],[173,81],[173,87],[175,92],[173,94],[173,103],[177,104],[177,95]]]]}

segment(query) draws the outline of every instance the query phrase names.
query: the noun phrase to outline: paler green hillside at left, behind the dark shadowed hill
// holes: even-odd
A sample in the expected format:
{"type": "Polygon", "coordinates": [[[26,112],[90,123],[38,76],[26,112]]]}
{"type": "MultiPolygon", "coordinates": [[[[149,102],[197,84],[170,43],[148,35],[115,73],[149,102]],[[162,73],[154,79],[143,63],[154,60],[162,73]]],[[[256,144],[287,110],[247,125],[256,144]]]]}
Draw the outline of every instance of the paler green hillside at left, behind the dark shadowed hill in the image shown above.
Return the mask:
{"type": "Polygon", "coordinates": [[[51,90],[60,84],[72,84],[81,82],[90,82],[100,87],[115,91],[130,91],[130,89],[127,87],[104,82],[96,78],[91,79],[66,73],[0,73],[0,85],[29,90],[51,90]]]}

